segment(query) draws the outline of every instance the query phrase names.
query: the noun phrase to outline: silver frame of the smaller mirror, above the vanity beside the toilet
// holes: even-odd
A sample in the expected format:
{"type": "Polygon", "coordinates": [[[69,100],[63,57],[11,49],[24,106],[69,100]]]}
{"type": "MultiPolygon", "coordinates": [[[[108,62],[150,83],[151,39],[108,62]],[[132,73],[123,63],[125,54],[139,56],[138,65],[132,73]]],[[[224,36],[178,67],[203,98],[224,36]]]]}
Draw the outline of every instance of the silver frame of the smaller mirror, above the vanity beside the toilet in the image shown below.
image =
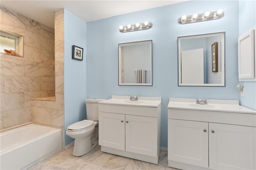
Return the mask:
{"type": "MultiPolygon", "coordinates": [[[[152,40],[145,40],[145,41],[138,41],[138,42],[128,42],[128,43],[119,43],[118,44],[118,85],[132,85],[132,86],[152,86],[153,82],[153,71],[152,71],[152,40]],[[122,83],[122,63],[121,63],[121,47],[124,45],[136,45],[136,44],[142,44],[142,43],[149,43],[150,44],[150,83],[122,83]]],[[[135,73],[134,73],[135,74],[135,73]]]]}

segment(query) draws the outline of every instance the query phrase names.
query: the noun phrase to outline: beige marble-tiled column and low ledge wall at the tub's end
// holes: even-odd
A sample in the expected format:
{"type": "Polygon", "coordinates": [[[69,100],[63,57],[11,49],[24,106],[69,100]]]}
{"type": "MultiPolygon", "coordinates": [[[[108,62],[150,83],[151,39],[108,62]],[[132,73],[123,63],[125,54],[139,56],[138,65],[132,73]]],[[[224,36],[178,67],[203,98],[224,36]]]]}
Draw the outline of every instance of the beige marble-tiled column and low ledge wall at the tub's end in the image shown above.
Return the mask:
{"type": "Polygon", "coordinates": [[[64,9],[55,12],[55,98],[31,100],[31,121],[62,129],[64,149],[64,9]]]}

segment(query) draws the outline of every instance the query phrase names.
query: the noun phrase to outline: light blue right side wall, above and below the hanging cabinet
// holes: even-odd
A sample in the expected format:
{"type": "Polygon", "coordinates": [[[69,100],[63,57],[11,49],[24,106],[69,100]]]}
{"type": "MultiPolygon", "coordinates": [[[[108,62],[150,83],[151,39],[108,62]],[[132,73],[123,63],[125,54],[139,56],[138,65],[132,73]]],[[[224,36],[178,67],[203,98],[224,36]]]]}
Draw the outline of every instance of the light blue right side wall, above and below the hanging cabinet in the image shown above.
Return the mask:
{"type": "MultiPolygon", "coordinates": [[[[256,1],[239,1],[239,36],[256,27],[256,1]]],[[[255,34],[255,33],[254,33],[255,34]]],[[[256,82],[241,81],[244,97],[240,105],[256,110],[256,82]]]]}

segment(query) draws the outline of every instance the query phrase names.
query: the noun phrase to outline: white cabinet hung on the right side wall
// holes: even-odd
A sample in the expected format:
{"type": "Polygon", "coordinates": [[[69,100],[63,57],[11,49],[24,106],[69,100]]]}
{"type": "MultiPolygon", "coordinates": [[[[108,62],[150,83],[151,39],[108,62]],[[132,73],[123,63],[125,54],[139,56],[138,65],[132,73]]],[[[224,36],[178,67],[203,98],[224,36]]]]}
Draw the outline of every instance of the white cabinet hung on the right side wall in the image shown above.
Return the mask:
{"type": "Polygon", "coordinates": [[[255,30],[238,37],[238,77],[239,81],[256,81],[255,30]]]}

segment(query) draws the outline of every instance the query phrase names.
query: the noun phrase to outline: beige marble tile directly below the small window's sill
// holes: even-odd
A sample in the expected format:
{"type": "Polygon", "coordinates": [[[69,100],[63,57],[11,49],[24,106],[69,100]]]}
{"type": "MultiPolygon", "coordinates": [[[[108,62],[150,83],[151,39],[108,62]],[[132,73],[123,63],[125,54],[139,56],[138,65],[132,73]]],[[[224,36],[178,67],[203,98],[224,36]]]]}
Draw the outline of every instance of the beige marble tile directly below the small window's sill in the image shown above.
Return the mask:
{"type": "Polygon", "coordinates": [[[0,58],[1,75],[24,75],[24,61],[0,58]]]}

